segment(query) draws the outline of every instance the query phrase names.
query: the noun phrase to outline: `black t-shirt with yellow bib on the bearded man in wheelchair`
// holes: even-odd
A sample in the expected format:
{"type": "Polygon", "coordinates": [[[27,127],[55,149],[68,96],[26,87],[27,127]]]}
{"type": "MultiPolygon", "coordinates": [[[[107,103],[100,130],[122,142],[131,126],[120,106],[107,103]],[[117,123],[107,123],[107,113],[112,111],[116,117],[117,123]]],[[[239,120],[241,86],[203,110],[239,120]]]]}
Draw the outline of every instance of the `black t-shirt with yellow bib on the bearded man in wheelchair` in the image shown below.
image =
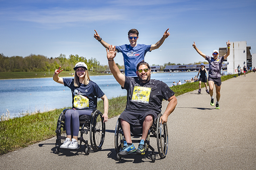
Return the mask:
{"type": "Polygon", "coordinates": [[[168,85],[155,79],[142,86],[138,78],[125,76],[123,88],[127,90],[125,110],[154,110],[158,114],[161,113],[163,99],[168,100],[175,94],[168,85]]]}

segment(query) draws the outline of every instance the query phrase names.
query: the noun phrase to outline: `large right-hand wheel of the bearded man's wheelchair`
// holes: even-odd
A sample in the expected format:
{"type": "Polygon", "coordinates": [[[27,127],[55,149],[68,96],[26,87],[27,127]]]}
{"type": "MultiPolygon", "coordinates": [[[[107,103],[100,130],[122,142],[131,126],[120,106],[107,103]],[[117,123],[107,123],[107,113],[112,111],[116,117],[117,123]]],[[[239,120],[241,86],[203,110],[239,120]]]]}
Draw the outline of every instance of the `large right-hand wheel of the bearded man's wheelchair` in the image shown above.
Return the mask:
{"type": "Polygon", "coordinates": [[[168,128],[167,123],[159,123],[160,116],[157,119],[157,144],[160,158],[164,158],[168,151],[168,128]]]}

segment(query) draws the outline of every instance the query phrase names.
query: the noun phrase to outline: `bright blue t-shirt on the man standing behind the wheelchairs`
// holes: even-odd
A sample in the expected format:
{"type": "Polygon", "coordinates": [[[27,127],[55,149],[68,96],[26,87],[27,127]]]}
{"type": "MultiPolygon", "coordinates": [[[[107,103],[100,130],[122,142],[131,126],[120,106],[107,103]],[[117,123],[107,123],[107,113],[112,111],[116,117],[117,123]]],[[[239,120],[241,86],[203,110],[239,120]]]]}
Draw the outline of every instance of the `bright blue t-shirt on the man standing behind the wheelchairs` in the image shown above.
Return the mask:
{"type": "Polygon", "coordinates": [[[148,51],[150,51],[150,48],[151,45],[145,44],[137,44],[135,47],[131,47],[130,44],[116,46],[116,50],[118,52],[122,52],[123,54],[125,75],[127,77],[137,77],[136,67],[139,62],[144,60],[145,55],[148,51]]]}

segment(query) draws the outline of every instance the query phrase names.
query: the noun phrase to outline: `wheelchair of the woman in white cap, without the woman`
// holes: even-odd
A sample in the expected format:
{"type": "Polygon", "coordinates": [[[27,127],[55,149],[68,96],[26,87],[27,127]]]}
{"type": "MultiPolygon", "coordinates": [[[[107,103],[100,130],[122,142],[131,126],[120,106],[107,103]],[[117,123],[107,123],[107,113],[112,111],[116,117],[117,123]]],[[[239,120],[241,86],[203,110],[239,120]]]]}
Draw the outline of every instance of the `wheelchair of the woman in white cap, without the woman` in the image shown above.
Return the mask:
{"type": "MultiPolygon", "coordinates": [[[[57,135],[55,151],[57,154],[60,153],[60,145],[66,139],[65,113],[67,110],[68,109],[65,109],[60,113],[58,123],[57,123],[57,129],[55,131],[57,135]]],[[[105,138],[105,122],[103,122],[103,120],[104,118],[102,118],[102,113],[97,109],[92,112],[91,116],[81,115],[79,117],[80,136],[78,136],[78,141],[80,141],[80,145],[78,145],[78,149],[75,149],[72,151],[79,150],[83,142],[85,143],[85,147],[84,147],[85,155],[89,155],[90,149],[89,149],[88,140],[85,140],[83,137],[84,136],[83,134],[87,135],[88,133],[90,133],[91,148],[93,149],[94,152],[99,151],[103,145],[104,138],[105,138]]],[[[71,128],[71,134],[73,134],[72,128],[71,128]]],[[[63,150],[68,150],[68,149],[63,149],[63,150]]]]}

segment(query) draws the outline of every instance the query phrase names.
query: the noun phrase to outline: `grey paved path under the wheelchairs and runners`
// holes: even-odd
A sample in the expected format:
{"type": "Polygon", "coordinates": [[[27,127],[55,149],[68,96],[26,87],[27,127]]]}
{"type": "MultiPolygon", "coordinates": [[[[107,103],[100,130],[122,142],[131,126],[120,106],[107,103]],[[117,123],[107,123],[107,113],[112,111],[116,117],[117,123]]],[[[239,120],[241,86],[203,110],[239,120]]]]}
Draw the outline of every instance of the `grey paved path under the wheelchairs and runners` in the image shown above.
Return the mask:
{"type": "MultiPolygon", "coordinates": [[[[256,170],[256,73],[222,83],[220,109],[210,105],[205,88],[177,97],[168,119],[166,158],[151,162],[150,155],[116,160],[114,129],[117,118],[106,124],[101,151],[55,154],[55,139],[42,141],[0,156],[1,170],[256,170]]],[[[166,107],[166,102],[164,102],[166,107]]],[[[89,135],[86,135],[89,137],[89,135]]],[[[156,139],[151,138],[157,149],[156,139]]],[[[138,147],[138,144],[136,144],[138,147]]]]}

